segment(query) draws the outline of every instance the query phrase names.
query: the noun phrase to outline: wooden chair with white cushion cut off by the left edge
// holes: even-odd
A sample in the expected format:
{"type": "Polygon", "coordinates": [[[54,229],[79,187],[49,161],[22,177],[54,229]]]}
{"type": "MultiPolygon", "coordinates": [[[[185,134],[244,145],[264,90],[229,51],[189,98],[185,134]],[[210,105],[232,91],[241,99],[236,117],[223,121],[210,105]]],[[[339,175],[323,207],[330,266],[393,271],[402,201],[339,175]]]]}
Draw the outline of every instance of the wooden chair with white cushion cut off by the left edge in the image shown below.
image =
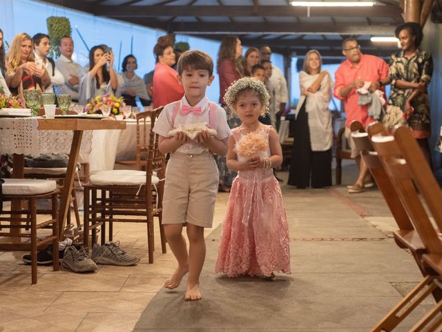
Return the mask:
{"type": "MultiPolygon", "coordinates": [[[[2,185],[3,200],[26,201],[27,208],[19,210],[5,211],[0,216],[1,224],[0,237],[25,237],[30,238],[31,253],[31,279],[32,284],[37,284],[37,250],[41,246],[52,243],[52,257],[54,270],[59,270],[58,259],[58,199],[59,190],[55,181],[50,180],[30,180],[23,178],[6,178],[2,185]],[[37,199],[49,199],[51,210],[37,211],[37,199]],[[37,213],[50,214],[50,219],[37,223],[37,213]],[[5,216],[6,215],[6,216],[5,216]],[[25,215],[25,217],[22,217],[25,215]],[[26,224],[23,224],[26,223],[26,224]],[[30,233],[21,232],[30,225],[30,233]],[[41,239],[41,234],[37,237],[37,232],[41,228],[52,228],[52,234],[41,239]],[[6,232],[3,230],[10,230],[6,232]]],[[[19,248],[20,245],[17,245],[19,248]]]]}

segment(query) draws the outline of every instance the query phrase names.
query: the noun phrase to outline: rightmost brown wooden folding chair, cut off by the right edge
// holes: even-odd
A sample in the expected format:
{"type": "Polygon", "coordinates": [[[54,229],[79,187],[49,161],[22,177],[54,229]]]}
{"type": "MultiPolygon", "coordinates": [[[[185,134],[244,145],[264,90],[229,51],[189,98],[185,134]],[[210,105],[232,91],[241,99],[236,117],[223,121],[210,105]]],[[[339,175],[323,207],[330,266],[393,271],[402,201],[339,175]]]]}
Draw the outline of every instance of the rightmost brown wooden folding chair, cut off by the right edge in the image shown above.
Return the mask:
{"type": "MultiPolygon", "coordinates": [[[[442,240],[419,199],[416,186],[422,192],[439,228],[442,226],[442,194],[410,129],[400,127],[394,133],[394,137],[373,136],[372,143],[425,248],[425,253],[421,255],[424,279],[372,329],[392,331],[430,293],[434,295],[434,291],[441,286],[439,280],[442,277],[442,240]]],[[[442,317],[437,315],[441,310],[442,300],[439,300],[410,331],[422,331],[424,327],[427,328],[426,331],[439,331],[437,329],[441,326],[442,317]]]]}

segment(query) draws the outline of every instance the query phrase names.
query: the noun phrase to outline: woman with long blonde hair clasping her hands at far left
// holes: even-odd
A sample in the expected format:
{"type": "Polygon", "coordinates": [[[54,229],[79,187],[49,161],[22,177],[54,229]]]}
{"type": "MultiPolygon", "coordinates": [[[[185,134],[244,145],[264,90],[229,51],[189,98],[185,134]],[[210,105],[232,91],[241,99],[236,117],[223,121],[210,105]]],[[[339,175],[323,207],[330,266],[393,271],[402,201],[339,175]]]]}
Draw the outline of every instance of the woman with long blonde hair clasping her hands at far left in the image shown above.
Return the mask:
{"type": "Polygon", "coordinates": [[[6,84],[12,95],[23,95],[23,90],[44,91],[50,85],[46,68],[35,63],[34,45],[27,33],[14,37],[6,62],[6,84]]]}

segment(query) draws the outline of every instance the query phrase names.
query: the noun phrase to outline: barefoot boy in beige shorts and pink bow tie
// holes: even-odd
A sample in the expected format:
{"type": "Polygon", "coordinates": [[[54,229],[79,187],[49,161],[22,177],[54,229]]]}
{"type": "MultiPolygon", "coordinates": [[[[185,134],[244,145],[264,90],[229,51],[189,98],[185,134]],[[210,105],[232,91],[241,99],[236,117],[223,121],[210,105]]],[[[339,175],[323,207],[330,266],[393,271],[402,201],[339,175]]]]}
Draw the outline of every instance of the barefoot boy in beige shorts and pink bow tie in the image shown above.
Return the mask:
{"type": "Polygon", "coordinates": [[[153,129],[160,135],[162,154],[172,153],[166,168],[162,223],[178,267],[164,287],[176,288],[189,273],[184,298],[198,300],[206,256],[204,227],[212,225],[218,192],[218,167],[213,154],[227,154],[231,131],[224,109],[206,97],[206,88],[214,78],[211,57],[199,50],[186,51],[178,60],[177,70],[185,95],[164,107],[153,129]],[[203,130],[190,140],[183,131],[178,131],[169,137],[169,131],[178,124],[198,122],[207,122],[216,135],[203,130]],[[182,236],[183,223],[187,224],[189,252],[182,236]]]}

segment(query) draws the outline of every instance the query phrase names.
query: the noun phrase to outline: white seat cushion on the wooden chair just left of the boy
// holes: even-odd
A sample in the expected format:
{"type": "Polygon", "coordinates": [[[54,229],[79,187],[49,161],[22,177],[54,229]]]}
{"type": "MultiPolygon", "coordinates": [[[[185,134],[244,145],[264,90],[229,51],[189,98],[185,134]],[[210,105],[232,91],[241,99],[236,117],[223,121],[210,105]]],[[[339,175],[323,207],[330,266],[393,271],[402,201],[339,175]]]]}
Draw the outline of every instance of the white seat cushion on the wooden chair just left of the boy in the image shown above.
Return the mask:
{"type": "MultiPolygon", "coordinates": [[[[113,171],[97,171],[89,176],[93,185],[142,185],[146,183],[146,172],[131,169],[115,169],[113,171]]],[[[157,176],[152,176],[152,184],[160,182],[157,176]]]]}

